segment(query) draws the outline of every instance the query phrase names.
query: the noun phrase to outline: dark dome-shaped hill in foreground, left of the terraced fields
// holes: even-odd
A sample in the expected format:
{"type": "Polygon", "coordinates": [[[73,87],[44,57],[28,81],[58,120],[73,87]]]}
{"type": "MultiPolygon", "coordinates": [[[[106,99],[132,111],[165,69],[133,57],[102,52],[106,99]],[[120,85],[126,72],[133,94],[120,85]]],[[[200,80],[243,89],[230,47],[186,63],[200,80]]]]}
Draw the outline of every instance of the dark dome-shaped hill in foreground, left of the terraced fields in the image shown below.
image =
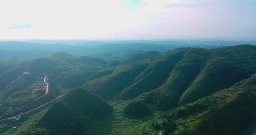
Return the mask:
{"type": "Polygon", "coordinates": [[[79,135],[107,119],[112,107],[91,92],[76,88],[65,95],[21,135],[79,135]]]}

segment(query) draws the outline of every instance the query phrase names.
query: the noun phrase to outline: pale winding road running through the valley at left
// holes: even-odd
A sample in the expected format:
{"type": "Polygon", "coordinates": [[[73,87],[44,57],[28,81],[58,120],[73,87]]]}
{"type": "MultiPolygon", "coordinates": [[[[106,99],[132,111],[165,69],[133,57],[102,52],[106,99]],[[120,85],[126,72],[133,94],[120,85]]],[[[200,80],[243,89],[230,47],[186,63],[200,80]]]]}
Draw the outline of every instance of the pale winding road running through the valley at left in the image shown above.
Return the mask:
{"type": "MultiPolygon", "coordinates": [[[[44,95],[46,95],[46,94],[48,93],[48,83],[46,82],[46,79],[47,79],[47,76],[44,77],[44,83],[46,84],[46,92],[45,92],[44,95]]],[[[42,95],[42,96],[44,96],[44,95],[42,95]]],[[[36,107],[36,108],[34,108],[34,109],[32,109],[32,110],[26,111],[26,112],[24,112],[24,113],[22,113],[22,114],[20,114],[20,115],[24,115],[24,114],[27,114],[27,113],[29,113],[29,112],[31,112],[31,111],[35,111],[35,110],[37,110],[37,109],[39,109],[39,108],[41,108],[41,107],[44,107],[45,105],[47,105],[47,104],[49,104],[49,103],[51,103],[51,102],[53,102],[53,101],[55,101],[55,100],[61,98],[61,97],[64,96],[64,95],[65,95],[65,94],[60,95],[59,97],[57,97],[57,98],[55,98],[55,99],[52,99],[51,101],[49,101],[49,102],[47,102],[47,103],[44,103],[43,105],[40,105],[39,107],[36,107]]],[[[40,97],[42,97],[42,96],[40,96],[40,97]]],[[[36,98],[36,99],[39,99],[40,97],[38,97],[38,98],[36,98]]],[[[35,99],[35,100],[36,100],[36,99],[35,99]]],[[[14,116],[12,116],[12,117],[16,117],[16,116],[18,116],[18,115],[14,115],[14,116]]],[[[4,118],[4,119],[1,119],[1,118],[0,118],[0,121],[7,120],[7,119],[10,119],[10,118],[12,118],[12,117],[4,118]]]]}

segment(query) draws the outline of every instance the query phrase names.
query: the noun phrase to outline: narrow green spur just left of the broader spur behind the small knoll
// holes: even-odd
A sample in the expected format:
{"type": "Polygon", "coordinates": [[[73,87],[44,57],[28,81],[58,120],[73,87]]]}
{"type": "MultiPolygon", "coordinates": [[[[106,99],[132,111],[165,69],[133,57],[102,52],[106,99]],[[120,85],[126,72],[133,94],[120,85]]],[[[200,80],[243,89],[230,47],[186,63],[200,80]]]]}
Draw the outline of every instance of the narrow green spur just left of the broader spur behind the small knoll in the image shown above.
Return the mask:
{"type": "Polygon", "coordinates": [[[148,67],[136,78],[134,83],[120,94],[123,99],[133,99],[141,93],[161,86],[168,78],[168,73],[182,59],[182,52],[150,59],[145,64],[148,67]]]}

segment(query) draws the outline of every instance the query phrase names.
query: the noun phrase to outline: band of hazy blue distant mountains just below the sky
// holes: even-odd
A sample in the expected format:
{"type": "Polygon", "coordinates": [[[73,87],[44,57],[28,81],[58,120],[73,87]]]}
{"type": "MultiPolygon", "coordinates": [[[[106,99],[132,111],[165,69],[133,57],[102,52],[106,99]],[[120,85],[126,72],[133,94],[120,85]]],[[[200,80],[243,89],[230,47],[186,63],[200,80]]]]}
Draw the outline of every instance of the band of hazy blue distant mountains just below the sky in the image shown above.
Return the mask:
{"type": "Polygon", "coordinates": [[[54,52],[67,52],[74,56],[89,56],[104,60],[116,60],[126,51],[165,52],[176,48],[216,48],[237,44],[256,45],[255,41],[214,40],[134,40],[134,41],[84,41],[84,40],[28,40],[0,41],[0,60],[33,60],[54,52]]]}

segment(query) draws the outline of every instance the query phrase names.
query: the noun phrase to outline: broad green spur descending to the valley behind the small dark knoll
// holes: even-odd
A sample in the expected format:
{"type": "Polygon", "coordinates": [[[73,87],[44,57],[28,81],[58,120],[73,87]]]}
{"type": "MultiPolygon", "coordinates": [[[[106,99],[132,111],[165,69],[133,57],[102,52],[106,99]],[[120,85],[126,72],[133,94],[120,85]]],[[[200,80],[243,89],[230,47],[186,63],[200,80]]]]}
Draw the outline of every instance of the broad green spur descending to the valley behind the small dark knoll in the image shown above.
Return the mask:
{"type": "Polygon", "coordinates": [[[140,95],[136,100],[156,103],[156,106],[163,110],[176,106],[179,96],[196,78],[205,63],[205,49],[190,49],[184,53],[186,53],[185,58],[176,64],[163,85],[140,95]]]}

